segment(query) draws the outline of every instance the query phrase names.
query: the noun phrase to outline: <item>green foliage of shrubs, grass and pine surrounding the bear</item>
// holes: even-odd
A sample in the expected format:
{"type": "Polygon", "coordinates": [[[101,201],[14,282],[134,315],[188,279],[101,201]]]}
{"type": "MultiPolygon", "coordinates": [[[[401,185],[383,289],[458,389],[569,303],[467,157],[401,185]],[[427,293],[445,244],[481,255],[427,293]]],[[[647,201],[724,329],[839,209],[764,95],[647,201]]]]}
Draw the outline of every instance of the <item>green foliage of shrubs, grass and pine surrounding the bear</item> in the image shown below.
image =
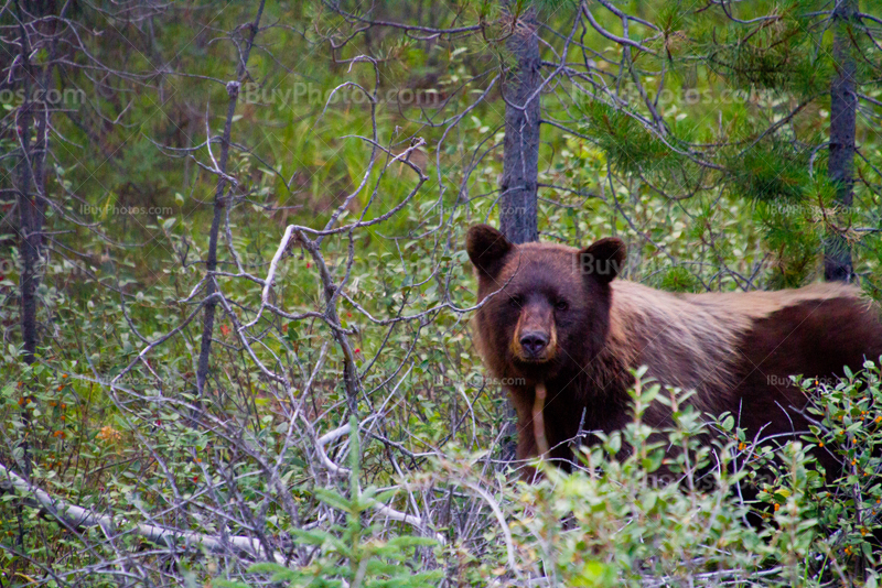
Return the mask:
{"type": "MultiPolygon", "coordinates": [[[[628,244],[625,276],[665,290],[777,288],[819,277],[821,239],[836,224],[851,229],[857,272],[878,297],[879,115],[859,122],[856,175],[862,182],[854,207],[838,209],[826,179],[826,150],[815,149],[829,127],[831,32],[805,17],[829,8],[800,0],[744,4],[742,19],[772,13],[779,20],[745,42],[744,28],[717,9],[698,11],[674,0],[616,3],[662,29],[647,42],[654,54],[639,53],[635,64],[655,72],[639,74],[646,87],[658,86],[664,72],[665,87],[676,90],[659,95],[667,131],[659,135],[632,116],[650,113],[627,75],[616,89],[625,98],[619,108],[587,99],[567,81],[550,85],[544,117],[577,133],[542,127],[542,239],[585,244],[617,235],[628,244]],[[770,128],[775,131],[765,133],[770,128]]],[[[878,14],[871,4],[861,9],[878,14]]],[[[344,8],[366,14],[359,3],[344,8]]],[[[546,2],[540,18],[566,34],[577,9],[546,2]]],[[[571,477],[549,471],[535,487],[513,482],[499,466],[506,400],[482,378],[471,315],[456,311],[474,303],[464,231],[474,222],[495,222],[497,215],[504,102],[498,87],[476,102],[509,59],[498,42],[504,26],[495,2],[386,2],[372,13],[378,20],[422,18],[433,26],[485,24],[481,34],[434,40],[389,29],[358,32],[357,20],[321,2],[271,2],[248,64],[250,80],[233,119],[233,141],[248,149],[230,154],[228,173],[240,189],[229,222],[243,265],[255,275],[266,275],[287,225],[323,227],[366,173],[370,145],[356,135],[372,135],[370,109],[352,84],[370,91],[376,73],[369,63],[347,59],[367,54],[377,62],[379,144],[395,153],[415,137],[427,144],[416,157],[429,181],[400,213],[352,241],[348,298],[338,314],[344,328],[357,329],[356,363],[367,391],[363,414],[381,410],[384,420],[373,436],[351,434],[335,446],[349,478],[316,475],[309,439],[286,445],[288,400],[237,345],[228,318],[216,326],[209,398],[194,396],[198,320],[109,385],[146,340],[172,331],[196,309],[186,298],[204,279],[216,187],[216,177],[196,162],[217,155],[216,144],[209,153],[206,135],[223,127],[223,81],[235,76],[237,59],[225,35],[250,21],[254,10],[244,2],[180,3],[136,23],[76,6],[71,18],[83,31],[100,31],[83,36],[90,54],[131,75],[94,84],[87,68],[57,73],[58,84],[82,88],[83,99],[53,117],[46,190],[60,208],[46,211],[47,230],[57,235],[40,285],[43,347],[33,366],[22,361],[17,334],[20,266],[10,228],[15,220],[4,205],[0,247],[11,263],[0,277],[0,462],[28,461],[35,486],[132,523],[161,520],[241,534],[250,530],[238,523],[223,530],[193,513],[174,520],[172,504],[183,500],[250,513],[241,516],[251,516],[279,549],[314,555],[281,567],[250,567],[247,557],[215,557],[198,548],[170,557],[135,535],[111,545],[99,529],[64,529],[7,492],[0,496],[4,585],[66,586],[84,577],[88,585],[116,585],[119,566],[108,562],[119,552],[140,554],[130,564],[146,571],[130,581],[151,586],[263,585],[273,575],[295,586],[477,586],[494,578],[514,585],[525,577],[566,586],[649,578],[659,585],[690,578],[768,585],[847,578],[874,585],[872,554],[864,547],[874,523],[863,524],[856,513],[876,508],[879,484],[856,473],[857,480],[842,481],[841,493],[821,497],[805,445],[788,445],[786,458],[775,462],[763,499],[781,508],[772,507],[777,526],[765,530],[743,522],[747,507],[729,500],[729,489],[751,468],[767,466],[768,456],[736,473],[719,472],[718,488],[707,492],[652,488],[652,447],[645,459],[625,464],[596,448],[589,456],[594,470],[571,477]],[[341,45],[349,35],[352,42],[341,45]],[[175,151],[191,148],[192,156],[175,151]],[[441,304],[450,306],[437,309],[441,304]],[[368,317],[402,309],[428,313],[391,327],[368,317]],[[197,401],[214,418],[212,426],[192,426],[197,401]],[[390,447],[400,453],[390,457],[390,447]],[[263,478],[273,459],[284,464],[279,483],[263,478]],[[846,492],[856,483],[862,490],[857,499],[846,492]],[[787,491],[776,493],[779,488],[787,491]],[[298,520],[281,505],[289,499],[298,520]],[[422,529],[370,510],[380,500],[406,511],[417,499],[431,519],[422,529]],[[857,566],[859,556],[870,564],[857,566]]],[[[613,14],[596,13],[609,30],[621,30],[613,14]]],[[[590,29],[580,39],[609,58],[622,55],[590,29]]],[[[563,41],[547,40],[553,61],[551,50],[561,51],[563,41]]],[[[856,52],[868,56],[859,61],[861,79],[878,79],[878,47],[861,39],[856,52]]],[[[76,59],[89,63],[83,54],[76,59]]],[[[593,67],[612,75],[617,65],[598,58],[593,67]]],[[[862,91],[882,98],[878,84],[862,91]]],[[[12,116],[19,106],[11,99],[2,108],[12,116]]],[[[0,135],[1,152],[14,149],[12,134],[0,135]]],[[[6,189],[14,160],[2,165],[6,189]]],[[[376,218],[417,184],[400,163],[378,165],[367,177],[376,187],[362,192],[340,224],[366,208],[365,218],[376,218]]],[[[325,240],[332,271],[346,271],[349,244],[346,235],[325,240]]],[[[222,259],[222,269],[235,273],[230,257],[224,252],[222,259]]],[[[259,304],[260,284],[219,282],[229,300],[259,304]]],[[[283,259],[273,296],[289,313],[324,312],[308,254],[293,249],[283,259]]],[[[252,316],[241,307],[234,312],[243,320],[252,316]]],[[[259,328],[260,359],[278,362],[295,393],[302,392],[332,340],[326,324],[267,314],[259,328]]],[[[309,395],[298,396],[318,434],[349,417],[342,379],[343,357],[332,342],[309,395]]],[[[830,423],[850,420],[841,431],[826,427],[828,434],[858,436],[871,449],[880,443],[878,426],[854,411],[878,413],[878,374],[871,370],[864,379],[869,388],[842,383],[819,411],[830,423]],[[861,402],[869,404],[860,409],[861,402]]],[[[690,443],[696,427],[695,415],[684,414],[682,443],[690,443]]],[[[740,444],[749,439],[739,439],[731,424],[720,428],[731,434],[720,451],[744,450],[740,444]]],[[[624,435],[648,443],[637,424],[624,435]]],[[[824,443],[820,429],[805,444],[824,443]]],[[[851,458],[878,477],[871,454],[851,458]]]]}

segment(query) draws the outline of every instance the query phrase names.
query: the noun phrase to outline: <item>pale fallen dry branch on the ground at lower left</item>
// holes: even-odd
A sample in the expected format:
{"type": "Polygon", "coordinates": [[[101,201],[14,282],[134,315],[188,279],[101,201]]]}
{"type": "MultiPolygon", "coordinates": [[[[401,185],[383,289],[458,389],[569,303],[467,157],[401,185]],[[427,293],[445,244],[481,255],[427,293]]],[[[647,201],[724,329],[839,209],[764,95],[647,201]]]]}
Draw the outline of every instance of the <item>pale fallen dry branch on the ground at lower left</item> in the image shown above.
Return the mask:
{"type": "MultiPolygon", "coordinates": [[[[53,498],[2,465],[0,465],[0,475],[9,479],[12,487],[19,492],[33,496],[43,508],[63,524],[72,527],[100,526],[106,532],[115,532],[120,525],[129,523],[129,521],[125,519],[115,520],[112,516],[96,514],[83,507],[69,504],[64,500],[53,498]]],[[[216,536],[195,533],[193,531],[181,531],[143,523],[132,523],[132,527],[129,531],[152,543],[161,545],[172,546],[176,541],[183,540],[186,545],[203,546],[218,553],[224,553],[227,547],[216,536]]],[[[260,546],[258,540],[235,535],[228,537],[228,543],[258,558],[267,558],[267,552],[260,546]]],[[[273,554],[272,558],[277,564],[284,565],[284,557],[281,554],[273,554]]]]}

